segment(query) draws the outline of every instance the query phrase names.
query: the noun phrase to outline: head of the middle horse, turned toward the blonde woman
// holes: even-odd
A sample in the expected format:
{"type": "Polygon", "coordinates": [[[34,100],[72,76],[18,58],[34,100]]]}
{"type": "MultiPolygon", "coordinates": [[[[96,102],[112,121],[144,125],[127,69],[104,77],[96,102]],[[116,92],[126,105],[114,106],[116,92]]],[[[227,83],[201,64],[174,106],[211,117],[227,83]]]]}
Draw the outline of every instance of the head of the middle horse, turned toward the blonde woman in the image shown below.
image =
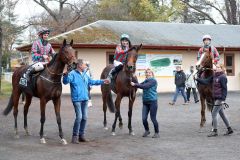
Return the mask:
{"type": "Polygon", "coordinates": [[[129,72],[135,72],[136,62],[138,58],[138,51],[142,48],[142,44],[139,46],[133,46],[127,51],[125,70],[129,72]]]}

